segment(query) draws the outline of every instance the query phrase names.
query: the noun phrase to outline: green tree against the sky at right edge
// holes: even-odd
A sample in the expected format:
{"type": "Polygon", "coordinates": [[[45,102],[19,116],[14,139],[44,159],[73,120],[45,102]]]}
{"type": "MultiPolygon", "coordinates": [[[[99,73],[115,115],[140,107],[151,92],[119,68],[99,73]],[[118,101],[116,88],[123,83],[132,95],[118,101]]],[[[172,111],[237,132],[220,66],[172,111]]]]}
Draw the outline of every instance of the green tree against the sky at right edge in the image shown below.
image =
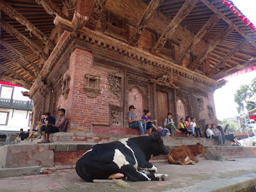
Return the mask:
{"type": "Polygon", "coordinates": [[[240,86],[239,90],[236,90],[234,101],[238,105],[237,112],[239,114],[243,113],[244,109],[250,111],[255,108],[255,102],[246,100],[254,94],[256,94],[256,78],[252,80],[251,84],[243,84],[240,86]]]}

